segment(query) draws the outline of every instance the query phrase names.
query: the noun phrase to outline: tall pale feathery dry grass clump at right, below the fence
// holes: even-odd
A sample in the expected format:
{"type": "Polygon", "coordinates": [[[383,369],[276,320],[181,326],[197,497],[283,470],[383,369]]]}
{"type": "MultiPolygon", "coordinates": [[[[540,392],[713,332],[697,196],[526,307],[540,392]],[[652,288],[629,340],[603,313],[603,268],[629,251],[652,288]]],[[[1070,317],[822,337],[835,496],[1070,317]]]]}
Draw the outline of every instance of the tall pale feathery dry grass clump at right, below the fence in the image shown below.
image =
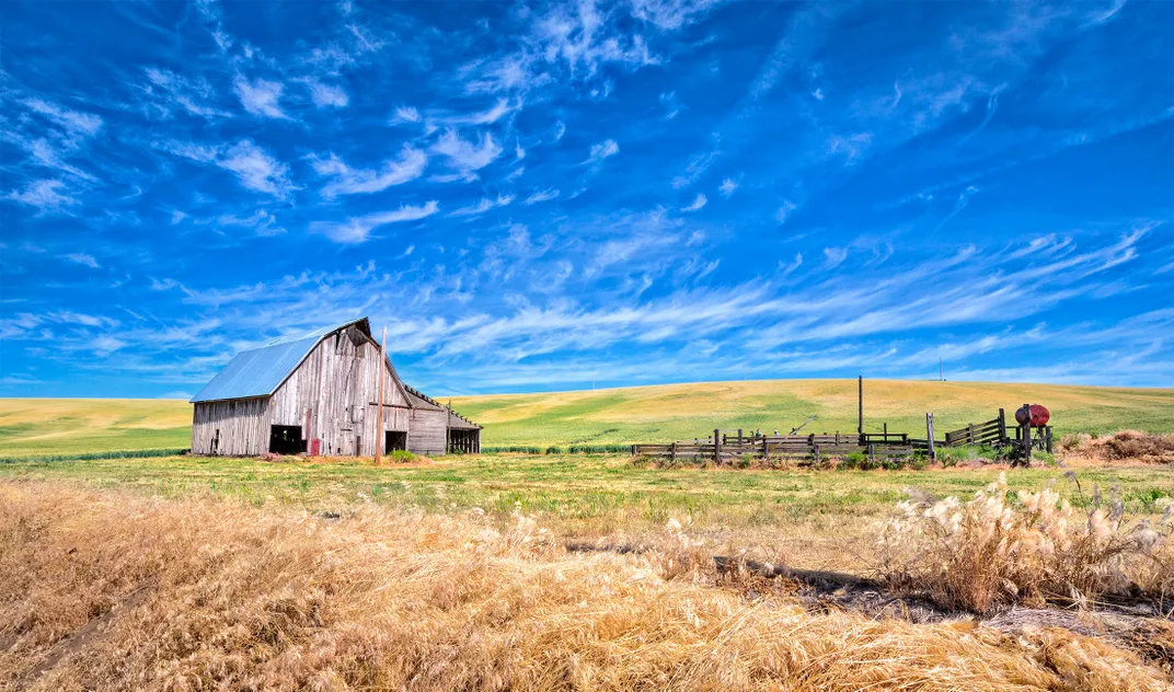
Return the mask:
{"type": "Polygon", "coordinates": [[[947,608],[989,613],[1106,595],[1158,602],[1174,595],[1170,507],[1156,523],[1129,521],[1120,498],[1078,511],[1051,488],[1008,500],[1006,474],[974,497],[911,500],[883,530],[880,572],[929,590],[947,608]]]}

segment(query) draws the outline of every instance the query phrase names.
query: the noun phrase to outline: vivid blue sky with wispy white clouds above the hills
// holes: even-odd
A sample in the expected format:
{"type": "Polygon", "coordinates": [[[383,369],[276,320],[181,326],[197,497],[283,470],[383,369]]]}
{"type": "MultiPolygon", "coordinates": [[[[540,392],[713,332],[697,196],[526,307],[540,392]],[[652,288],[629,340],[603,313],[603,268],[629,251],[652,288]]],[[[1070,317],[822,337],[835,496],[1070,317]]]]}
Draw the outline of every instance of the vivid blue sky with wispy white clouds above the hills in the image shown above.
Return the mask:
{"type": "Polygon", "coordinates": [[[5,2],[0,394],[1174,386],[1174,5],[5,2]]]}

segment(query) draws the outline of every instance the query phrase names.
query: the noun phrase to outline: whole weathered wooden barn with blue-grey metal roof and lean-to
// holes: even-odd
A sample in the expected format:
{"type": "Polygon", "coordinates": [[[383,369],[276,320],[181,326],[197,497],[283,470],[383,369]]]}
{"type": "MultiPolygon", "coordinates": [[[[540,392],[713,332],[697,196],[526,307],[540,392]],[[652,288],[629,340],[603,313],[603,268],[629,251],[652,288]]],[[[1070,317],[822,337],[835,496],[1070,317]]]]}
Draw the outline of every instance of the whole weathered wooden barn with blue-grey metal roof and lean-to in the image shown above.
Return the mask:
{"type": "Polygon", "coordinates": [[[191,402],[191,453],[371,455],[481,450],[481,427],[400,381],[366,318],[243,351],[191,402]]]}

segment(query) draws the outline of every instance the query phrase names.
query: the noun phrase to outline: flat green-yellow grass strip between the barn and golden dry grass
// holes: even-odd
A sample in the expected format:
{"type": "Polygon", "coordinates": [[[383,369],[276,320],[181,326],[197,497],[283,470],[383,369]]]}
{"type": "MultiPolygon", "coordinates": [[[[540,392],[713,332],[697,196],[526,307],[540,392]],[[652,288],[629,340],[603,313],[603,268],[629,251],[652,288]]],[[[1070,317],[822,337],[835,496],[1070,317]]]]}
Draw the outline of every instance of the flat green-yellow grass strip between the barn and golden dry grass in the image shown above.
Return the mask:
{"type": "MultiPolygon", "coordinates": [[[[480,508],[508,515],[515,508],[568,531],[607,532],[620,527],[659,528],[691,517],[711,529],[815,522],[836,527],[891,510],[916,487],[935,495],[972,495],[998,475],[984,469],[925,471],[809,471],[654,469],[614,456],[446,457],[417,466],[375,467],[369,461],[266,462],[256,459],[173,456],[0,463],[0,479],[72,480],[164,497],[215,495],[247,504],[332,509],[372,501],[430,511],[480,508]]],[[[1010,474],[1011,488],[1055,489],[1082,507],[1099,484],[1119,486],[1131,511],[1160,511],[1174,497],[1165,467],[1079,469],[1081,488],[1061,469],[1010,474]]]]}

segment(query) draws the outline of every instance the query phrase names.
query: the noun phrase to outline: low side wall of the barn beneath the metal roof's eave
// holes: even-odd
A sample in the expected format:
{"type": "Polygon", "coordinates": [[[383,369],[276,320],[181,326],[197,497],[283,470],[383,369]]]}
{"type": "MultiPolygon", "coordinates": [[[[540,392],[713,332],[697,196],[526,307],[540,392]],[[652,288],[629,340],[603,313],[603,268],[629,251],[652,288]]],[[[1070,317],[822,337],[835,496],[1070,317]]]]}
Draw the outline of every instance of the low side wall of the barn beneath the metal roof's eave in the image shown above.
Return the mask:
{"type": "Polygon", "coordinates": [[[191,414],[193,454],[254,456],[268,450],[269,399],[266,396],[196,403],[191,414]]]}

